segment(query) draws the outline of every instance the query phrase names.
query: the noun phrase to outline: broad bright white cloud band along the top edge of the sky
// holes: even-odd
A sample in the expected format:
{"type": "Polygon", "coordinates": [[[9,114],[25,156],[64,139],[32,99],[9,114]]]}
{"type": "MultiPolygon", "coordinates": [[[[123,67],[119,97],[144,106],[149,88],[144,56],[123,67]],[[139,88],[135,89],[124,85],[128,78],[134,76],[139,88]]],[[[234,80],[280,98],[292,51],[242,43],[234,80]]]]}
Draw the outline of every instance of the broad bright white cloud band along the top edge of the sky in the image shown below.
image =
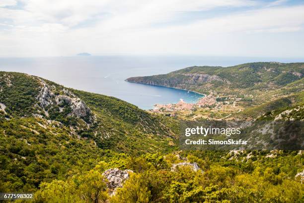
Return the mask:
{"type": "Polygon", "coordinates": [[[2,10],[1,15],[8,13],[16,23],[27,20],[75,26],[90,19],[103,21],[104,15],[98,15],[105,13],[118,24],[122,21],[142,24],[168,20],[178,12],[255,4],[251,0],[23,0],[23,3],[23,13],[2,10]]]}

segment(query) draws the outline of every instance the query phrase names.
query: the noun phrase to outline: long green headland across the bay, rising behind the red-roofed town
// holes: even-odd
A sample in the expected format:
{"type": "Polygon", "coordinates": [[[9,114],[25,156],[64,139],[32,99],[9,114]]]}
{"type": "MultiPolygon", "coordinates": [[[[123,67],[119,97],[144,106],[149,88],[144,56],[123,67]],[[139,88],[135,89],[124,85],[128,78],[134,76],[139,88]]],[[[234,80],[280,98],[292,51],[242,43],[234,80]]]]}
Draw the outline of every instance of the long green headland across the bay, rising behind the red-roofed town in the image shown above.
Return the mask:
{"type": "Polygon", "coordinates": [[[302,79],[304,63],[259,62],[231,67],[194,66],[164,75],[132,77],[127,81],[209,94],[244,94],[274,90],[302,79]]]}

